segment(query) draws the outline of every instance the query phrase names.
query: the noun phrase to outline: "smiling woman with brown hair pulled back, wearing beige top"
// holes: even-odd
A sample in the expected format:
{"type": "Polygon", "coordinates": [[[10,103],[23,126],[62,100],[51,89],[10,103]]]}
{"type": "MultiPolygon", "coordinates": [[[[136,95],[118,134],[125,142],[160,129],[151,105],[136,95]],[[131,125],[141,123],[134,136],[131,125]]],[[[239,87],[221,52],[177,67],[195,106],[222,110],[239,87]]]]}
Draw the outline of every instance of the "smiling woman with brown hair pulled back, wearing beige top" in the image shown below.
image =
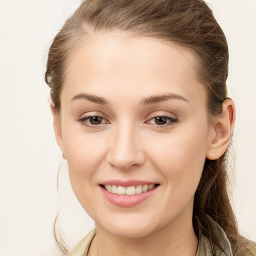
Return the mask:
{"type": "Polygon", "coordinates": [[[96,227],[70,255],[255,255],[226,189],[227,65],[202,0],[87,0],[65,22],[45,80],[96,227]]]}

